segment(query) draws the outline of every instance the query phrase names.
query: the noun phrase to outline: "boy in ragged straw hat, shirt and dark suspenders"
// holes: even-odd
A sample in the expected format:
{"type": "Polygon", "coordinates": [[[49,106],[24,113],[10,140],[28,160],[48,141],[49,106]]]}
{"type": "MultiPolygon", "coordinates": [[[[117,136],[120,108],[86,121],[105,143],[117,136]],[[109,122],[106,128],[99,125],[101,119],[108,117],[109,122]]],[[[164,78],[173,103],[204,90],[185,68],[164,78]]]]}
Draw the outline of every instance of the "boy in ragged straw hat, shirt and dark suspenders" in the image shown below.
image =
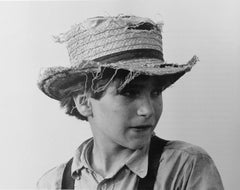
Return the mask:
{"type": "Polygon", "coordinates": [[[56,40],[70,67],[46,69],[40,89],[66,113],[89,122],[93,138],[69,162],[47,172],[47,189],[223,189],[201,148],[154,135],[162,91],[197,62],[167,64],[161,24],[136,16],[95,17],[56,40]]]}

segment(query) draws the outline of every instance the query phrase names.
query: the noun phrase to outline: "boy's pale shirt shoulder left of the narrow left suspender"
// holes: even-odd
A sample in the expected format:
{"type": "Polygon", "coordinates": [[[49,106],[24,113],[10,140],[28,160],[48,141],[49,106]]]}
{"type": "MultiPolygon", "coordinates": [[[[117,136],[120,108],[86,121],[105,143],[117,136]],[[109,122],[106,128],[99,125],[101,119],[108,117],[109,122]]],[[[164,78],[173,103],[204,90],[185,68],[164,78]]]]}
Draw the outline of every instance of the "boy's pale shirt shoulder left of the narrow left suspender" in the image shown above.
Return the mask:
{"type": "Polygon", "coordinates": [[[66,163],[47,171],[37,182],[37,189],[60,189],[66,163]]]}

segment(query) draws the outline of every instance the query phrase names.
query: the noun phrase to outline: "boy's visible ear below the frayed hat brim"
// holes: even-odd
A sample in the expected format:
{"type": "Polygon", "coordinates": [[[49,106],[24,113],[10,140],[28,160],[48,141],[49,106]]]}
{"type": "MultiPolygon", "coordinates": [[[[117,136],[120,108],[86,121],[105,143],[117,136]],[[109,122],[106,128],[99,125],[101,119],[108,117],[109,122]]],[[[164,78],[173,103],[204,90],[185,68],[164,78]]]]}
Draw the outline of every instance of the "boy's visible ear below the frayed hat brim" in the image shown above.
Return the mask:
{"type": "Polygon", "coordinates": [[[82,98],[82,95],[77,95],[73,97],[76,109],[81,115],[89,117],[92,115],[92,106],[88,100],[82,102],[82,98]]]}

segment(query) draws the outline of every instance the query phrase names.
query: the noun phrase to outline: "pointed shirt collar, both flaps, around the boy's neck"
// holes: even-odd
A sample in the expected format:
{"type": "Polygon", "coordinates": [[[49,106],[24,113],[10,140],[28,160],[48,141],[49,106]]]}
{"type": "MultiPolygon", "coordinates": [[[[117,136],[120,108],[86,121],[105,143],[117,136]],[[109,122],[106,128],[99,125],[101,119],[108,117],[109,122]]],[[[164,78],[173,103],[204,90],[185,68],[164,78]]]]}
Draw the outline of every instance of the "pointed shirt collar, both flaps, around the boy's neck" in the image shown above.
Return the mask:
{"type": "MultiPolygon", "coordinates": [[[[85,142],[83,142],[76,150],[76,153],[73,157],[72,168],[71,168],[72,177],[74,179],[81,177],[81,170],[83,168],[86,168],[87,170],[90,170],[90,171],[94,171],[91,168],[88,160],[92,147],[93,147],[93,138],[90,138],[85,142]]],[[[131,154],[131,156],[125,162],[125,165],[133,173],[135,173],[141,178],[144,178],[147,175],[148,150],[149,150],[149,146],[145,146],[141,149],[137,149],[131,154]]],[[[119,170],[121,168],[119,168],[119,170]]]]}

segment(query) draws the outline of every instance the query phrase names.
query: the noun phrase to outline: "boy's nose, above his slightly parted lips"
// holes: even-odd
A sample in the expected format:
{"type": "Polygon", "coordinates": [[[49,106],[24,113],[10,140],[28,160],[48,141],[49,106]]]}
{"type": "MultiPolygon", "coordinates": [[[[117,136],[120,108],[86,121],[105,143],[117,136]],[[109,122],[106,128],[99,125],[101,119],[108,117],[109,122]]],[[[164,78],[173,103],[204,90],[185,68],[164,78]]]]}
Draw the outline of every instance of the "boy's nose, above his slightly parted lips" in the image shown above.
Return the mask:
{"type": "Polygon", "coordinates": [[[151,117],[154,113],[153,102],[150,97],[142,98],[137,114],[143,117],[151,117]]]}

